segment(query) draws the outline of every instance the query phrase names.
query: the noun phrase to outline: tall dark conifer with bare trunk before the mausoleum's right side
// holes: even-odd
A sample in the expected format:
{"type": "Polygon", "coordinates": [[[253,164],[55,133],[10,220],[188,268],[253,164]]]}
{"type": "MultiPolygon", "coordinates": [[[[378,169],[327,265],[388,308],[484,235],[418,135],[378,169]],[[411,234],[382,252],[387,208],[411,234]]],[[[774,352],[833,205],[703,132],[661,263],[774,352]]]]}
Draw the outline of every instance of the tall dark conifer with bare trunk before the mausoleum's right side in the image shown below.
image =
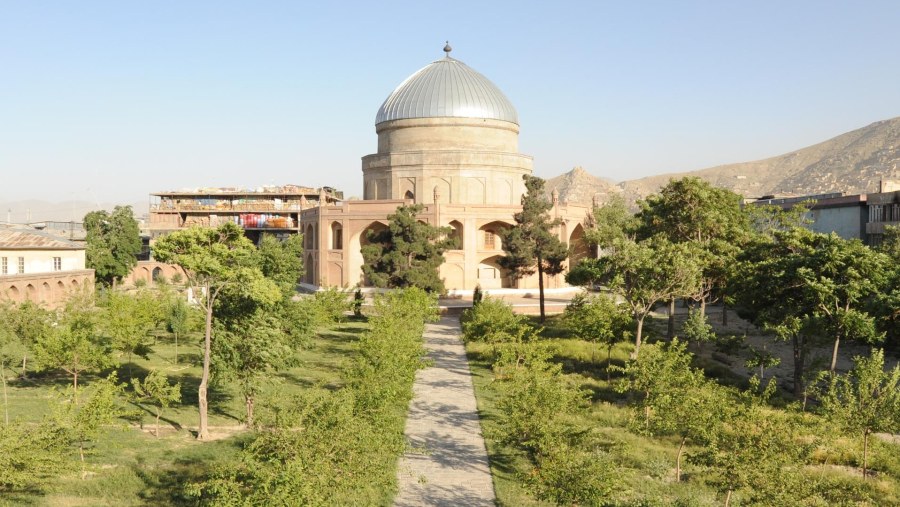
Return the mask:
{"type": "Polygon", "coordinates": [[[544,196],[544,180],[524,175],[525,195],[522,211],[513,215],[515,225],[500,231],[505,256],[498,262],[516,279],[538,274],[541,322],[544,322],[544,274],[558,275],[569,256],[566,244],[559,240],[553,229],[561,221],[551,219],[553,205],[544,196]]]}

